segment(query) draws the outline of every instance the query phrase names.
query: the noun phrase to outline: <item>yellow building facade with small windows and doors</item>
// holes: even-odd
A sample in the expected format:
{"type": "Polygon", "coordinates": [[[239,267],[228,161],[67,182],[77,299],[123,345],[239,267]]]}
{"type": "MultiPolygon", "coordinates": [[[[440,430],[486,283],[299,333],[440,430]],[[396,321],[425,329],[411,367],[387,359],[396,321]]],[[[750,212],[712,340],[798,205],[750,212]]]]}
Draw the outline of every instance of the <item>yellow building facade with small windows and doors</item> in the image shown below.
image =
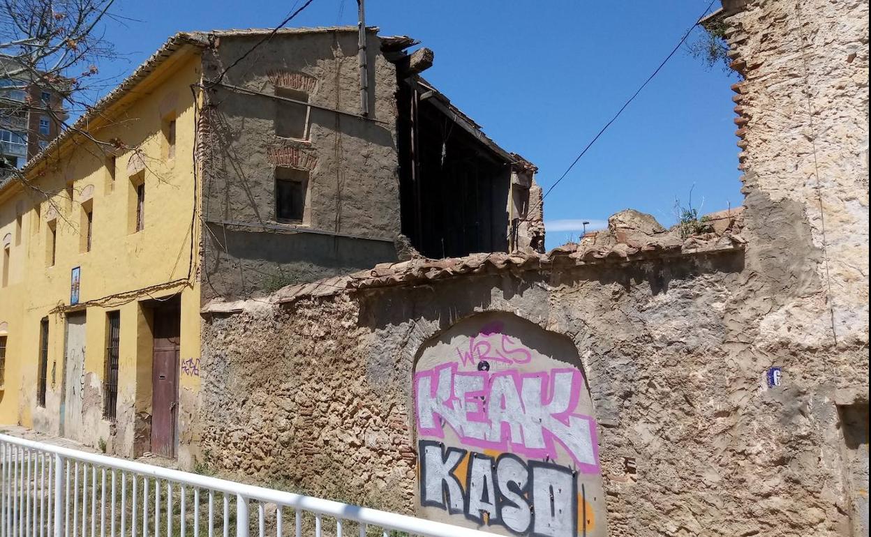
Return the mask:
{"type": "Polygon", "coordinates": [[[171,39],[0,183],[0,424],[190,460],[200,50],[171,39]]]}

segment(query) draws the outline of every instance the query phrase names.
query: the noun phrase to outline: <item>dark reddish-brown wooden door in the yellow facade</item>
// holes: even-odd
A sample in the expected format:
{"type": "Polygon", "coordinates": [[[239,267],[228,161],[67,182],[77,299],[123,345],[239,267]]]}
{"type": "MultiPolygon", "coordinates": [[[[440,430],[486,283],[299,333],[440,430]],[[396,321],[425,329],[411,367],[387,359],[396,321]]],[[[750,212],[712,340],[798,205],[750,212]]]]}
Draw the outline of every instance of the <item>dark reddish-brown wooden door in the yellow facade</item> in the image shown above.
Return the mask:
{"type": "Polygon", "coordinates": [[[178,305],[154,309],[152,362],[152,453],[175,456],[179,403],[180,311],[178,305]]]}

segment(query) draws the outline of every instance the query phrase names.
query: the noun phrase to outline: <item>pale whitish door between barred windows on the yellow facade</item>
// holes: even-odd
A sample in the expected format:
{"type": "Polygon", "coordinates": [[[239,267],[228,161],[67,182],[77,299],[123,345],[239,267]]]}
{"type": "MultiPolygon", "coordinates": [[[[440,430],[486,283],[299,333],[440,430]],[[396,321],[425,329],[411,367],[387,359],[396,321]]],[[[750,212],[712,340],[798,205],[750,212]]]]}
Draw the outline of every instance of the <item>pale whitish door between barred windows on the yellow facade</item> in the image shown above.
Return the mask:
{"type": "Polygon", "coordinates": [[[64,398],[61,399],[61,435],[84,441],[84,334],[85,313],[66,316],[64,330],[64,398]]]}

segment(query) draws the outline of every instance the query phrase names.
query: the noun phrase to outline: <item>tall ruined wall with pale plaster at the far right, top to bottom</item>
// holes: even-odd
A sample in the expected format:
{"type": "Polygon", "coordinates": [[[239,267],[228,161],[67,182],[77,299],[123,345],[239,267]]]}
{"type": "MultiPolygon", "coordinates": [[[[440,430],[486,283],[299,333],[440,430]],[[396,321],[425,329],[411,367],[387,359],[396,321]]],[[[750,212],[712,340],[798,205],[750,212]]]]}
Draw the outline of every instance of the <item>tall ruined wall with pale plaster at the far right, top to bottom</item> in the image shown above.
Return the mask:
{"type": "Polygon", "coordinates": [[[841,483],[868,438],[845,449],[838,412],[868,405],[868,2],[753,1],[725,21],[748,241],[730,369],[782,366],[789,386],[748,445],[750,514],[764,534],[868,534],[867,476],[841,483]]]}

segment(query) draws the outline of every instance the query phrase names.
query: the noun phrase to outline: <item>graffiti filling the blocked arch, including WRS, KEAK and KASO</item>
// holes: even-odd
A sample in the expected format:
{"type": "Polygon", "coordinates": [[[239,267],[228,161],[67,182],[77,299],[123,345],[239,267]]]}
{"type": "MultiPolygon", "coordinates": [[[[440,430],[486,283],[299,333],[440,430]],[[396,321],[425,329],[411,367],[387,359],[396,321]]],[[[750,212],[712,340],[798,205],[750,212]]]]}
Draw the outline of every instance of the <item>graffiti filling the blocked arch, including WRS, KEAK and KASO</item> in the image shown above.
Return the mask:
{"type": "Polygon", "coordinates": [[[502,322],[472,333],[446,334],[415,367],[424,514],[517,535],[604,534],[584,374],[502,322]]]}

